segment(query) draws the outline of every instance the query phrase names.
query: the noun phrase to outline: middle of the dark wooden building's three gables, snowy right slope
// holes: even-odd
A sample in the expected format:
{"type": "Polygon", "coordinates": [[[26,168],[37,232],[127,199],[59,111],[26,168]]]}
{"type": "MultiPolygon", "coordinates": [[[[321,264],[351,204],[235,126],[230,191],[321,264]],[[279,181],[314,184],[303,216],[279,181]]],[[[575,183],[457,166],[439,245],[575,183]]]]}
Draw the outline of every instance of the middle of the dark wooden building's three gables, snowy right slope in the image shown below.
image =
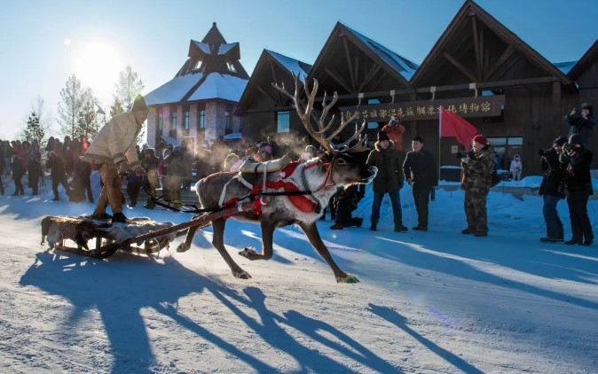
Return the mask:
{"type": "Polygon", "coordinates": [[[417,64],[353,28],[337,22],[319,52],[309,79],[339,93],[410,88],[417,64]]]}

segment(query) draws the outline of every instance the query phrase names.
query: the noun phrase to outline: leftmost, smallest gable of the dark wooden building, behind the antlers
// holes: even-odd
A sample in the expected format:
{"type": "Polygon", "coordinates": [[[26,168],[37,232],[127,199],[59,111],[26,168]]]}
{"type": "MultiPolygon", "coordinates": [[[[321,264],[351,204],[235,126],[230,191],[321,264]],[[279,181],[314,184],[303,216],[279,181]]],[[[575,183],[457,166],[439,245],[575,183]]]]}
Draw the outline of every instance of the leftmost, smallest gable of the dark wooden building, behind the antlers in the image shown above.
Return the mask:
{"type": "Polygon", "coordinates": [[[255,95],[271,98],[273,105],[283,105],[287,97],[271,87],[272,82],[286,82],[286,87],[293,84],[293,75],[299,75],[301,81],[310,74],[311,65],[295,58],[290,58],[275,51],[264,50],[257,60],[256,68],[249,78],[247,88],[240,97],[235,115],[240,115],[252,105],[255,95]]]}

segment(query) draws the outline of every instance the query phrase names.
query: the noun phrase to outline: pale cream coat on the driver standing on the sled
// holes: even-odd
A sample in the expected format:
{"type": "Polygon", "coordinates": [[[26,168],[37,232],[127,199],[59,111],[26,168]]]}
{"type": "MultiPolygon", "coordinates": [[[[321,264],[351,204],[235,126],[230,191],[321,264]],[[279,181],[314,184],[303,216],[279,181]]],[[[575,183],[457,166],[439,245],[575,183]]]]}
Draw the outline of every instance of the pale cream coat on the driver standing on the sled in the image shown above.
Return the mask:
{"type": "Polygon", "coordinates": [[[116,114],[99,130],[81,159],[97,164],[111,162],[115,165],[127,161],[135,169],[140,166],[135,145],[141,126],[132,112],[116,114]]]}

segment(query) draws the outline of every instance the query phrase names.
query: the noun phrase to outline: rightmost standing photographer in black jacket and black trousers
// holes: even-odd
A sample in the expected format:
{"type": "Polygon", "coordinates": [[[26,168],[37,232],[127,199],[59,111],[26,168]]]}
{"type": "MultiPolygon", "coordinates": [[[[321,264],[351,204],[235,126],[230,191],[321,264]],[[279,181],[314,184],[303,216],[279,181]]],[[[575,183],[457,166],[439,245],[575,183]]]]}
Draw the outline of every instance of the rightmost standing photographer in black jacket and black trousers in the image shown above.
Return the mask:
{"type": "Polygon", "coordinates": [[[592,223],[587,215],[587,200],[594,194],[590,176],[592,156],[579,134],[570,136],[569,143],[563,145],[560,160],[567,165],[565,184],[572,234],[566,245],[592,245],[594,242],[592,223]]]}

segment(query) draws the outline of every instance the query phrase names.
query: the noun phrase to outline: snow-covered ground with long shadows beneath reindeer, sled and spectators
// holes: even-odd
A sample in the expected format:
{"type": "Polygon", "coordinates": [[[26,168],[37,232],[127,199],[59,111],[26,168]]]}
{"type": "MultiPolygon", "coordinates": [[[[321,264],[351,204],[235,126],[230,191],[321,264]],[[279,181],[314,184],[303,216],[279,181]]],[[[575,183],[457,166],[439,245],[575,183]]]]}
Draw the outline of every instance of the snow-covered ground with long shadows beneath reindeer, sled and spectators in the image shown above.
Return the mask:
{"type": "MultiPolygon", "coordinates": [[[[369,231],[368,186],[356,212],[364,227],[319,222],[358,284],[336,284],[296,227],[275,232],[271,261],[238,256],[259,249],[261,234],[233,220],[226,244],[249,280],[232,277],[210,228],[190,251],[175,251],[178,238],[155,258],[46,252],[45,215],[93,210],[50,200],[0,197],[0,372],[598,372],[598,245],[540,243],[537,196],[492,192],[489,237],[474,238],[460,234],[462,191],[437,191],[428,232],[394,232],[387,199],[369,231]]],[[[401,200],[411,228],[408,187],[401,200]]],[[[596,232],[597,207],[591,200],[596,232]]],[[[564,201],[559,209],[570,237],[564,201]]],[[[125,214],[190,219],[140,206],[125,214]]]]}

